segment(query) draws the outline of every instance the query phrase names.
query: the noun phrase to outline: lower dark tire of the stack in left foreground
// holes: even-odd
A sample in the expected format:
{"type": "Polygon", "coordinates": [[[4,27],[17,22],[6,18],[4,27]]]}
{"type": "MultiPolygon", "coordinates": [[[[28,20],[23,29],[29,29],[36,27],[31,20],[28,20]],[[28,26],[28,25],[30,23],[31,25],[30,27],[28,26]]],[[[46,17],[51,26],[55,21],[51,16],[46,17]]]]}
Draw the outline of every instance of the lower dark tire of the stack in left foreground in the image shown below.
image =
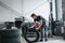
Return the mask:
{"type": "Polygon", "coordinates": [[[16,38],[2,38],[2,43],[21,43],[21,37],[16,38]]]}

